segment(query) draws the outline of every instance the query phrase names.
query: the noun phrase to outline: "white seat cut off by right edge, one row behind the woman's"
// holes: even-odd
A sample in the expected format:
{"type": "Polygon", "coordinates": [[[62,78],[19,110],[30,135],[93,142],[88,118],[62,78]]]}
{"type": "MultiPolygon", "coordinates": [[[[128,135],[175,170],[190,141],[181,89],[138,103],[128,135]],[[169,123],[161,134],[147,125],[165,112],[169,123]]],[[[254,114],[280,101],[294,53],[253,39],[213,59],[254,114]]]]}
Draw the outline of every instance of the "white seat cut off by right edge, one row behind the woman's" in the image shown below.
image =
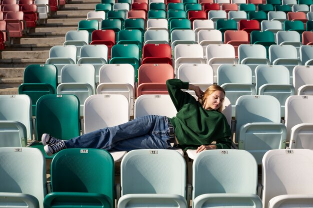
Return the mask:
{"type": "Polygon", "coordinates": [[[292,71],[297,95],[313,95],[313,66],[295,66],[292,71]]]}

